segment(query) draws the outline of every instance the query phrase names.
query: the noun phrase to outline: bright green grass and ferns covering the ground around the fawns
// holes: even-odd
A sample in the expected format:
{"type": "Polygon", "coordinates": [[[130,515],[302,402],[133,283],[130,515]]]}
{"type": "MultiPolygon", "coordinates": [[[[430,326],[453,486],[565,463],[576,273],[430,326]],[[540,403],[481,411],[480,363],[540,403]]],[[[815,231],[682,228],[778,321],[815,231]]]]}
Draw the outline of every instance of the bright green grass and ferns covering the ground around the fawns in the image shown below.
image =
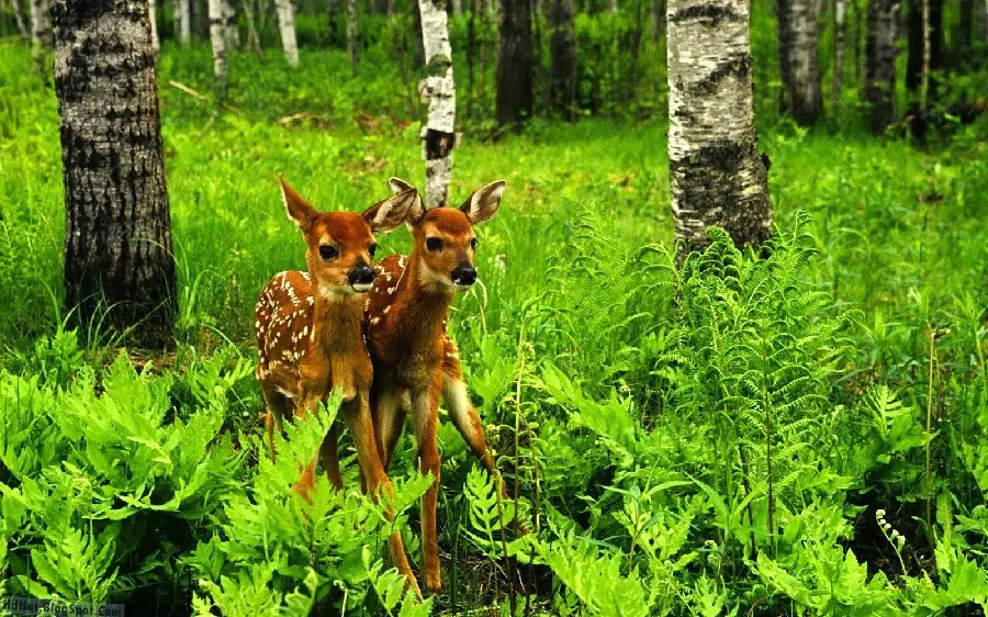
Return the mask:
{"type": "MultiPolygon", "coordinates": [[[[60,328],[57,104],[26,48],[0,43],[0,585],[160,615],[188,614],[193,592],[225,615],[266,614],[292,593],[327,614],[379,614],[390,583],[374,570],[386,531],[375,506],[321,485],[322,505],[303,513],[293,459],[262,462],[251,324],[268,278],[304,267],[278,172],[324,209],[363,209],[390,176],[422,183],[411,86],[374,48],[357,79],[337,51],[304,51],[297,72],[273,51],[234,54],[217,112],[169,85],[212,97],[207,49],[166,45],[179,345],[138,374],[145,359],[110,341],[80,348],[60,328]],[[308,115],[279,122],[296,113],[308,115]]],[[[519,574],[492,487],[444,423],[436,612],[507,607],[513,594],[536,614],[587,615],[988,602],[986,125],[921,150],[860,132],[855,114],[806,131],[761,113],[776,250],[757,261],[717,243],[682,271],[670,267],[661,120],[536,119],[496,141],[465,124],[453,199],[497,178],[508,189],[480,231],[484,287],[457,301],[451,328],[539,528],[507,535],[517,562],[535,562],[519,574]],[[918,521],[928,395],[934,516],[918,521]],[[878,508],[905,546],[882,537],[878,508]]],[[[380,239],[382,256],[408,247],[404,229],[380,239]]],[[[317,438],[300,427],[292,451],[305,458],[317,438]]],[[[414,464],[406,438],[393,467],[405,506],[423,486],[414,464]]],[[[417,560],[414,511],[401,525],[417,560]]],[[[287,614],[307,614],[296,601],[287,614]]]]}

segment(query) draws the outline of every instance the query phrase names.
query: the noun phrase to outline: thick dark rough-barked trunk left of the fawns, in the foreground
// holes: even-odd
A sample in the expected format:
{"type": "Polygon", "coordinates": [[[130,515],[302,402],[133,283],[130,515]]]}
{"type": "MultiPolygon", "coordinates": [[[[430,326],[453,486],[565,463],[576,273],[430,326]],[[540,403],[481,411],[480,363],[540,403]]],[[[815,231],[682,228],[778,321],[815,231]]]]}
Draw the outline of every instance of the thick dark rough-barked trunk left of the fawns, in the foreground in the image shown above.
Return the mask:
{"type": "Polygon", "coordinates": [[[175,260],[147,0],[58,0],[66,304],[167,344],[175,260]],[[103,304],[105,302],[105,304],[103,304]]]}

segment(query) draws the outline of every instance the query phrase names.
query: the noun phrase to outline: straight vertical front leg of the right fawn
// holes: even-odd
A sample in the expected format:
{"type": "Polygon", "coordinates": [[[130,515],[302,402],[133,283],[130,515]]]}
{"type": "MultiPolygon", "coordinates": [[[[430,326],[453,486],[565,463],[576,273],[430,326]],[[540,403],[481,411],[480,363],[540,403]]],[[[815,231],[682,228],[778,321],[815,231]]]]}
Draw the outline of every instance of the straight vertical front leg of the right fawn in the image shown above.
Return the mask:
{"type": "Polygon", "coordinates": [[[436,424],[439,418],[439,395],[442,375],[436,374],[428,386],[412,392],[412,418],[415,439],[418,441],[418,468],[433,474],[433,485],[422,498],[422,552],[426,571],[426,588],[433,593],[442,591],[439,575],[439,543],[436,532],[436,505],[439,493],[441,461],[436,442],[436,424]]]}

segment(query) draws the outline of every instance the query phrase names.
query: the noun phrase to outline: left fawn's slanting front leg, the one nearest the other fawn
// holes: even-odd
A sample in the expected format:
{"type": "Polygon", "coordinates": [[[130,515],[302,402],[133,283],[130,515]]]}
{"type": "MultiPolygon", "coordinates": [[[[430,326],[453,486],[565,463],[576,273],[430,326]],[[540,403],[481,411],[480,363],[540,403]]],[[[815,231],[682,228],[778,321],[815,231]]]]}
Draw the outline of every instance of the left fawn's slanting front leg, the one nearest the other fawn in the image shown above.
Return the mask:
{"type": "MultiPolygon", "coordinates": [[[[384,491],[386,493],[386,498],[393,498],[394,492],[391,487],[391,480],[389,480],[388,474],[384,472],[384,468],[381,465],[381,459],[378,455],[378,445],[377,439],[374,438],[374,425],[371,419],[370,402],[368,401],[367,393],[361,393],[358,396],[358,401],[348,403],[344,407],[344,413],[346,414],[347,424],[350,426],[350,433],[353,435],[353,445],[357,447],[357,462],[360,465],[363,476],[367,479],[371,496],[378,498],[380,492],[384,491]]],[[[393,519],[394,515],[391,506],[388,508],[386,516],[389,520],[393,519]]],[[[405,579],[408,581],[408,586],[415,590],[415,593],[422,597],[418,582],[415,580],[415,574],[412,572],[412,566],[408,564],[408,558],[405,556],[405,547],[402,543],[402,535],[400,531],[394,531],[388,538],[388,548],[391,551],[391,560],[395,568],[405,575],[405,579]]]]}

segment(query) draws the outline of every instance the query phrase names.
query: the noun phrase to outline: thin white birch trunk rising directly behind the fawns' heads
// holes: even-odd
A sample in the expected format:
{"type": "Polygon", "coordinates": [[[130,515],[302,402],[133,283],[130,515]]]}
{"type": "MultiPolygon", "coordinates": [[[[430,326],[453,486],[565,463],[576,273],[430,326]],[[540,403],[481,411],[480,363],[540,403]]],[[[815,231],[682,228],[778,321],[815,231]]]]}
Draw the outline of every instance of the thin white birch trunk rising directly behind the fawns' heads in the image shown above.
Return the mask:
{"type": "Polygon", "coordinates": [[[418,0],[422,14],[422,41],[425,46],[426,78],[418,85],[429,117],[422,127],[422,156],[426,164],[425,207],[431,210],[448,202],[452,175],[452,149],[457,135],[457,89],[452,76],[452,48],[444,0],[418,0]]]}

